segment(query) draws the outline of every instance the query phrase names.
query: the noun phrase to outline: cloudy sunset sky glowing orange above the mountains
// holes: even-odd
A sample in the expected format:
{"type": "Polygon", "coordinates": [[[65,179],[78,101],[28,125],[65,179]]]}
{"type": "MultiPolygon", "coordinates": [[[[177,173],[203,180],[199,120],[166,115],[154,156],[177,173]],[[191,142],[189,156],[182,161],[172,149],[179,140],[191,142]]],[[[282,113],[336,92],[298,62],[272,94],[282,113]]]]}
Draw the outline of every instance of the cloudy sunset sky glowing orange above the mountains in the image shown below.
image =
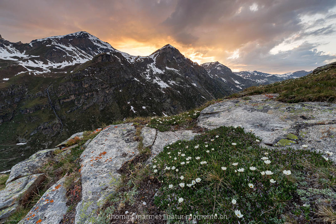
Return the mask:
{"type": "Polygon", "coordinates": [[[336,61],[335,0],[1,0],[11,42],[87,31],[132,55],[166,44],[199,64],[282,74],[336,61]]]}

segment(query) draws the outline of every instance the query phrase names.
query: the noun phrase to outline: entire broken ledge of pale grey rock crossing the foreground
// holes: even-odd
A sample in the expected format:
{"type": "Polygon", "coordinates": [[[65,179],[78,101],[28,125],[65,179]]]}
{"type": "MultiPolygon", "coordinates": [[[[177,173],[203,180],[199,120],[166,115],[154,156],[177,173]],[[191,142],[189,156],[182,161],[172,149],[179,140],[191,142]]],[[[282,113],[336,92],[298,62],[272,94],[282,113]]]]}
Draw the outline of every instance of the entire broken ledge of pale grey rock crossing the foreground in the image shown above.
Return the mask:
{"type": "MultiPolygon", "coordinates": [[[[241,126],[246,131],[260,136],[261,145],[271,148],[307,146],[311,150],[328,150],[336,154],[336,105],[318,102],[288,104],[275,101],[276,95],[257,95],[239,99],[226,99],[212,104],[201,111],[197,125],[202,129],[219,126],[241,126]]],[[[83,133],[73,135],[81,137],[83,133]]],[[[121,177],[123,165],[139,160],[139,144],[148,148],[151,160],[167,144],[178,140],[191,140],[198,133],[192,130],[160,132],[155,128],[124,123],[110,125],[82,146],[80,155],[81,197],[75,206],[74,223],[95,223],[97,211],[105,199],[114,191],[121,177]],[[136,136],[139,135],[141,141],[136,136]]],[[[139,137],[139,136],[138,136],[139,137]]],[[[16,164],[9,175],[5,189],[0,191],[0,223],[25,203],[44,180],[40,168],[47,162],[57,161],[71,150],[64,143],[58,145],[61,153],[55,156],[55,149],[39,151],[29,159],[16,164]]],[[[335,159],[331,157],[331,159],[335,159]]],[[[68,174],[66,174],[67,176],[68,174]]],[[[66,215],[69,204],[64,186],[65,177],[51,186],[38,200],[23,223],[58,224],[66,215]]]]}

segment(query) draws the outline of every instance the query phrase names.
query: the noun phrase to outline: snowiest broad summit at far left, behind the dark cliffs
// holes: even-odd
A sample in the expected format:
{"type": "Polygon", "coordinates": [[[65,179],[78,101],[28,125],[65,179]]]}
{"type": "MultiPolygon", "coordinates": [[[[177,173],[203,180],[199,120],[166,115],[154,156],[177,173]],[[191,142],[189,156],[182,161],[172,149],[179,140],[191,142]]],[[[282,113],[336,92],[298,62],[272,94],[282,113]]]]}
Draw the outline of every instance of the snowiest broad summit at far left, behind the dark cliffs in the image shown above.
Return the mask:
{"type": "MultiPolygon", "coordinates": [[[[34,75],[66,73],[69,66],[87,62],[104,52],[120,51],[84,31],[37,39],[25,44],[0,39],[1,78],[24,72],[34,75]]],[[[130,57],[126,53],[123,55],[130,57]]]]}

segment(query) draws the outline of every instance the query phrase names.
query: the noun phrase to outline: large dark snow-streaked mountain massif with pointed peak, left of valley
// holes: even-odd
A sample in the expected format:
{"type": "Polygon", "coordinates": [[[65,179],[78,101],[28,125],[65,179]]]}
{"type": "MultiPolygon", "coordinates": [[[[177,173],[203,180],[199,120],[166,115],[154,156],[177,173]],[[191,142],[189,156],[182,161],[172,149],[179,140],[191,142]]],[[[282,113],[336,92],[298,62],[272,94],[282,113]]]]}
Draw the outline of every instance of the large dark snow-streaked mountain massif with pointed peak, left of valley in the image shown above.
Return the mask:
{"type": "Polygon", "coordinates": [[[87,32],[0,43],[0,142],[6,145],[0,156],[13,154],[10,145],[27,143],[14,147],[11,164],[69,133],[127,117],[175,114],[235,92],[169,44],[140,57],[87,32]]]}

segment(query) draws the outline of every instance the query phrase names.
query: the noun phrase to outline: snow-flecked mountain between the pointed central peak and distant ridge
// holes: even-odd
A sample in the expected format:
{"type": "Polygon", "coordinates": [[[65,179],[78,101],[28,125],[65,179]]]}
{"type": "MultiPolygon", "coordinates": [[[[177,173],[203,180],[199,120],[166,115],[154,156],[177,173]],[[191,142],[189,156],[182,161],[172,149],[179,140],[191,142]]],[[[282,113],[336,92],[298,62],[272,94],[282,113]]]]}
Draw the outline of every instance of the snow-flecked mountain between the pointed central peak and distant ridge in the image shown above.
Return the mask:
{"type": "Polygon", "coordinates": [[[231,69],[219,62],[208,62],[202,64],[201,66],[205,68],[214,78],[227,83],[233,91],[241,91],[247,87],[258,85],[258,83],[253,80],[244,79],[241,76],[236,75],[231,71],[231,69]]]}

